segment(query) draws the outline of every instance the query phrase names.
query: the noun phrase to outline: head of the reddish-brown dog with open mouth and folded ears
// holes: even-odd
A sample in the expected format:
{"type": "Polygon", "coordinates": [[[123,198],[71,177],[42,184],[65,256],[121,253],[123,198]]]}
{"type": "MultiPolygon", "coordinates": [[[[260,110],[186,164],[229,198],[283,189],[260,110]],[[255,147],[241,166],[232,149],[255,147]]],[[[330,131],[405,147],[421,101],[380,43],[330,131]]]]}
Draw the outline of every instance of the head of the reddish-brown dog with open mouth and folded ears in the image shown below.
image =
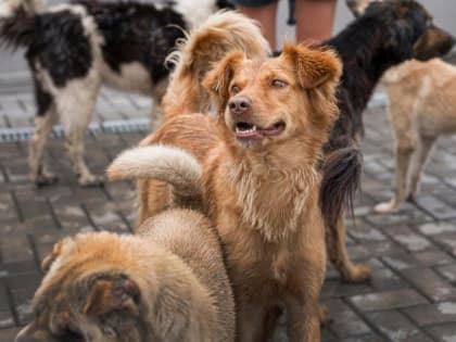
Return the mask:
{"type": "Polygon", "coordinates": [[[292,137],[318,145],[338,115],[340,75],[332,51],[288,43],[277,58],[249,60],[232,52],[203,85],[216,100],[224,136],[237,145],[262,149],[292,137]]]}

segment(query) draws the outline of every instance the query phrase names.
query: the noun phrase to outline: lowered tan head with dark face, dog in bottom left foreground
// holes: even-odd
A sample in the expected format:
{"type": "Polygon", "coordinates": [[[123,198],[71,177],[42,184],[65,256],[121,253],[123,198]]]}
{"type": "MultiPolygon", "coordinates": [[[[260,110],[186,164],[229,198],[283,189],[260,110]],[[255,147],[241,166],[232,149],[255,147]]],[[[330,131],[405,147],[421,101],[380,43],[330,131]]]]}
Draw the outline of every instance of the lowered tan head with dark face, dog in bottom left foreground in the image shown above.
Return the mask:
{"type": "Polygon", "coordinates": [[[34,320],[16,342],[143,341],[140,286],[119,237],[87,233],[55,244],[36,291],[34,320]]]}

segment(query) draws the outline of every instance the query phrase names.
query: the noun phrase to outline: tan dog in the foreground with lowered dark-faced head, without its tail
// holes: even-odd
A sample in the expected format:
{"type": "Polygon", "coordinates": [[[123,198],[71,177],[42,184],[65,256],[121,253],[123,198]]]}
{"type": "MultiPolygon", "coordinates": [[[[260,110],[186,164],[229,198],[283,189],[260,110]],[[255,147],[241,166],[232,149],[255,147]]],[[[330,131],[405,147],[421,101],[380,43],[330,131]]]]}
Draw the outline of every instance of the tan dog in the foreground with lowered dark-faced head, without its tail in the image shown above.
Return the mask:
{"type": "Polygon", "coordinates": [[[16,342],[235,341],[232,291],[215,230],[192,211],[148,219],[138,236],[55,244],[16,342]]]}

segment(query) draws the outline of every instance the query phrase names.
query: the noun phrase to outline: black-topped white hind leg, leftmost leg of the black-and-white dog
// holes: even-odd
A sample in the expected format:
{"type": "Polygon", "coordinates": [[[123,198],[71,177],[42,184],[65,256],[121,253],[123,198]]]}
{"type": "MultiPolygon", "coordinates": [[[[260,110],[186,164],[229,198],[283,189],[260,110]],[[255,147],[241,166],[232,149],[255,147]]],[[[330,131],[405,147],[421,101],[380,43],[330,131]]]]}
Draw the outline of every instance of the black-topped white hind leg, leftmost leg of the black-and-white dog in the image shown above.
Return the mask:
{"type": "Polygon", "coordinates": [[[47,169],[43,162],[46,142],[58,121],[55,104],[52,96],[42,89],[41,84],[34,79],[37,115],[35,117],[34,135],[28,143],[28,167],[30,180],[37,186],[54,183],[58,178],[47,169]]]}

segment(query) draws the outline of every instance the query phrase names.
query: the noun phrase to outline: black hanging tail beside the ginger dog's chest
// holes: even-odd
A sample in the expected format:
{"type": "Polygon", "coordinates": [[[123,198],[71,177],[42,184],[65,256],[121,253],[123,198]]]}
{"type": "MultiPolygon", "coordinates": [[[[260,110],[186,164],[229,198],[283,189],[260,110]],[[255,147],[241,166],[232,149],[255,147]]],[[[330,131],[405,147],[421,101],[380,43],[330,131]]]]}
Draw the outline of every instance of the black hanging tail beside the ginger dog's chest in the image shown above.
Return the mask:
{"type": "Polygon", "coordinates": [[[353,199],[360,182],[363,155],[354,145],[325,156],[320,187],[320,208],[327,226],[335,225],[344,207],[353,215],[353,199]]]}

